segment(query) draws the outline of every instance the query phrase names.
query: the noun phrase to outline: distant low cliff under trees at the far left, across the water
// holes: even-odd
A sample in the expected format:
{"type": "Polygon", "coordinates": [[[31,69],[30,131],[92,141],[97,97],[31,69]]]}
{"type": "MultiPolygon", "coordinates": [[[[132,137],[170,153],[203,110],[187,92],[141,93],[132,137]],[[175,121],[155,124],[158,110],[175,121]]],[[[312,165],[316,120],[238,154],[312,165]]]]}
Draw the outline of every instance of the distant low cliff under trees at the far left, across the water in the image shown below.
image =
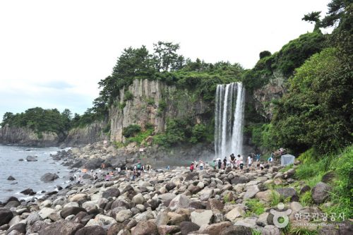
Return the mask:
{"type": "Polygon", "coordinates": [[[15,128],[8,125],[0,128],[0,143],[13,145],[28,145],[49,147],[59,144],[60,138],[56,133],[42,133],[41,138],[29,128],[15,128]]]}

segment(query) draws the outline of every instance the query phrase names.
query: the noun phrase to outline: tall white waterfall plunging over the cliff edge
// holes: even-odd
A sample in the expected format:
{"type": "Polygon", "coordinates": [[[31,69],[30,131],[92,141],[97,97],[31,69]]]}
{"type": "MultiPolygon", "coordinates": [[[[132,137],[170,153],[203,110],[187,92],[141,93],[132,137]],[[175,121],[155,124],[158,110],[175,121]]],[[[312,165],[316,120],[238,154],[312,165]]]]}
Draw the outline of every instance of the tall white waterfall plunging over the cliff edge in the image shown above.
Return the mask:
{"type": "Polygon", "coordinates": [[[217,85],[215,109],[216,158],[242,155],[245,89],[241,83],[217,85]],[[236,99],[236,100],[235,100],[236,99]]]}

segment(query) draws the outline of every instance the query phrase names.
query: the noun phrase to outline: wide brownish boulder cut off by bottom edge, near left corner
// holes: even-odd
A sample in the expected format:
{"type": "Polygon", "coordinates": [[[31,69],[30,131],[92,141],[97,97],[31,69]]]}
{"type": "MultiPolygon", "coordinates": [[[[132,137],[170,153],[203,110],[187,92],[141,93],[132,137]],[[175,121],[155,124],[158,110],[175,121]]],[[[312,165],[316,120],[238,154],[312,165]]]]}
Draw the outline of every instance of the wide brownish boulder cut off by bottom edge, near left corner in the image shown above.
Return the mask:
{"type": "Polygon", "coordinates": [[[54,222],[47,225],[43,229],[40,229],[38,235],[47,234],[60,234],[60,235],[71,235],[76,234],[76,231],[83,227],[82,224],[72,223],[65,220],[54,222]]]}

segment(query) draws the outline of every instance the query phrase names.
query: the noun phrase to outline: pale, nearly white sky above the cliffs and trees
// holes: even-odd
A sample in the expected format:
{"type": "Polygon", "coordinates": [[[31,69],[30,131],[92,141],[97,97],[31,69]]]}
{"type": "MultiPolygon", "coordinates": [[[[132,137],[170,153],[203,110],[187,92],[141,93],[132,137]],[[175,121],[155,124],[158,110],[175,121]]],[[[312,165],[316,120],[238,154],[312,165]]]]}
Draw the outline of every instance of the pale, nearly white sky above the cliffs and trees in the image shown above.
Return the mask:
{"type": "Polygon", "coordinates": [[[179,43],[179,54],[252,68],[313,30],[329,0],[0,0],[0,121],[32,107],[83,114],[126,47],[179,43]]]}

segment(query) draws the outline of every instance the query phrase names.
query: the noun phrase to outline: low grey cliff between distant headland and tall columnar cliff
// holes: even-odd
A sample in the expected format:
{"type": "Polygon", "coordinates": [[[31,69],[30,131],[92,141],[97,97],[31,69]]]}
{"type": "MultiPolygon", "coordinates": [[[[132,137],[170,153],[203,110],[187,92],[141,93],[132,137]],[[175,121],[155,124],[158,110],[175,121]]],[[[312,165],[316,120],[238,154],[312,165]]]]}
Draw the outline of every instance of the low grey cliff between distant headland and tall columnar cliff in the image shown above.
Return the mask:
{"type": "Polygon", "coordinates": [[[103,133],[107,126],[106,121],[95,121],[83,128],[73,128],[68,132],[64,140],[66,146],[88,145],[102,140],[108,140],[109,137],[103,133]]]}

